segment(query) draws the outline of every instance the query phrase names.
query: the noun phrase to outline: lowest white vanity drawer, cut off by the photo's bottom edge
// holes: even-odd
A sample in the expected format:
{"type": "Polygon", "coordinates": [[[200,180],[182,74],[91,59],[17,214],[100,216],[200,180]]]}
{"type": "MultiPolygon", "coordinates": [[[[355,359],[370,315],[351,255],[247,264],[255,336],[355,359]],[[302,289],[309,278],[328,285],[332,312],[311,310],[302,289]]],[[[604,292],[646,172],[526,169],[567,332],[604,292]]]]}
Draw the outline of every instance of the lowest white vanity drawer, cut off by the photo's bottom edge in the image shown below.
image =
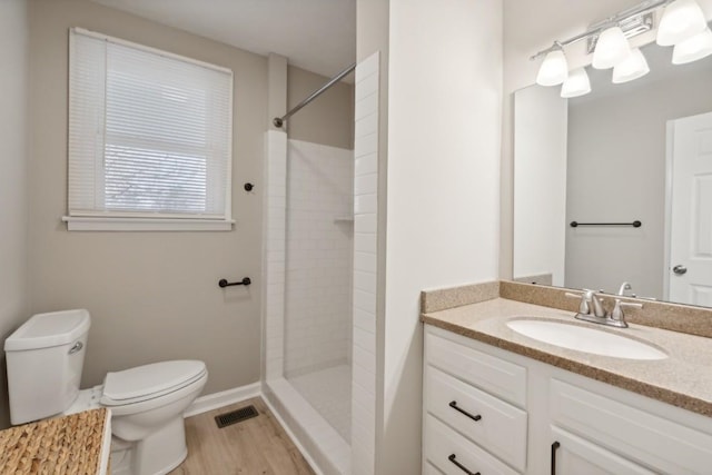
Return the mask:
{"type": "Polygon", "coordinates": [[[429,463],[446,475],[466,473],[456,463],[472,473],[479,472],[483,475],[517,474],[429,414],[425,416],[424,443],[425,466],[429,463]]]}

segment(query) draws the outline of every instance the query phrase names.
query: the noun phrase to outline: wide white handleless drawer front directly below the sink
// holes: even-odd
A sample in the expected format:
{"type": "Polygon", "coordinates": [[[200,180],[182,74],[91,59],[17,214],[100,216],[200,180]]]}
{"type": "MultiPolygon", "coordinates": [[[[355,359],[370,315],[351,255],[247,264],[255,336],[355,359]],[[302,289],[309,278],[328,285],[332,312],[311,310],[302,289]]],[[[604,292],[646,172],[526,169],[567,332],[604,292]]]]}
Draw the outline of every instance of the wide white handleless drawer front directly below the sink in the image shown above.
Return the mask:
{"type": "Polygon", "coordinates": [[[712,435],[557,379],[551,380],[554,424],[609,449],[675,475],[712,469],[712,435]]]}

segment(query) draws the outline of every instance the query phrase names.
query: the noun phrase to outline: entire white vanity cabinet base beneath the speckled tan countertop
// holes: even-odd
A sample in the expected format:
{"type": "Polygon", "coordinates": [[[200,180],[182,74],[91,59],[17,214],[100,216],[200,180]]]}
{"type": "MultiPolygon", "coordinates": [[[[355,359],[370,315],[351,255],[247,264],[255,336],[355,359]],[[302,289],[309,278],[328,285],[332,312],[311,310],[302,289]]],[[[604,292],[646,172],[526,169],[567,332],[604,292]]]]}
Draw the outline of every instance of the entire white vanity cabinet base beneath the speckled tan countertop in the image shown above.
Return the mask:
{"type": "Polygon", "coordinates": [[[425,474],[712,474],[712,418],[431,325],[423,413],[425,474]]]}

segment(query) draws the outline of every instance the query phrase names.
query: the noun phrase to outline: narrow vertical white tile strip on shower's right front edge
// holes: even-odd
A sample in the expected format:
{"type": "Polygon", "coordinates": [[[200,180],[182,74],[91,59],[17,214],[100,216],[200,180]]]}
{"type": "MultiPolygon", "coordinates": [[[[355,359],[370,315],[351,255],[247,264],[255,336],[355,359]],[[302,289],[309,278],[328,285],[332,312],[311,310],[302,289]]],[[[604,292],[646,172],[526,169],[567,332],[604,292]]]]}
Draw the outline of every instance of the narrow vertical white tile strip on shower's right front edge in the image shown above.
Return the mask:
{"type": "Polygon", "coordinates": [[[379,55],[356,67],[352,473],[375,469],[379,55]]]}

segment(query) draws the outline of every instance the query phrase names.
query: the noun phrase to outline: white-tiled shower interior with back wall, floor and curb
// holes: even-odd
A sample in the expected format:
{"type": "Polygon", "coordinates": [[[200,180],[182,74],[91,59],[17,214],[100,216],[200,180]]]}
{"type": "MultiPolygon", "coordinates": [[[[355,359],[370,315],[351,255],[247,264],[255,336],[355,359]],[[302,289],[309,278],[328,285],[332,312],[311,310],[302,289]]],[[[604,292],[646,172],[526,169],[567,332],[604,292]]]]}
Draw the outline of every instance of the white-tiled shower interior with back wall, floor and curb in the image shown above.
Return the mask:
{"type": "Polygon", "coordinates": [[[315,465],[350,472],[354,150],[266,138],[268,404],[315,465]]]}

